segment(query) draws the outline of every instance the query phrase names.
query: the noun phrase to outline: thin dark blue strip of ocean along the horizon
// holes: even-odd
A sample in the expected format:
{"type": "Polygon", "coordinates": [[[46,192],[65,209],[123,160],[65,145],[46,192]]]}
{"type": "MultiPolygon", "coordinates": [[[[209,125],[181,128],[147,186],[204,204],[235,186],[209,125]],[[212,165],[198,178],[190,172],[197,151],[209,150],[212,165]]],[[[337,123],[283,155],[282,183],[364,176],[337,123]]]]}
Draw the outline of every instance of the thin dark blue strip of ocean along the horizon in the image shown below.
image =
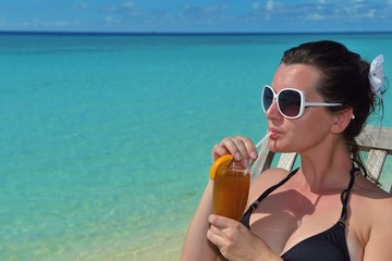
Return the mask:
{"type": "Polygon", "coordinates": [[[392,30],[364,32],[77,32],[77,30],[0,30],[0,35],[64,36],[258,36],[258,35],[369,35],[392,34],[392,30]]]}

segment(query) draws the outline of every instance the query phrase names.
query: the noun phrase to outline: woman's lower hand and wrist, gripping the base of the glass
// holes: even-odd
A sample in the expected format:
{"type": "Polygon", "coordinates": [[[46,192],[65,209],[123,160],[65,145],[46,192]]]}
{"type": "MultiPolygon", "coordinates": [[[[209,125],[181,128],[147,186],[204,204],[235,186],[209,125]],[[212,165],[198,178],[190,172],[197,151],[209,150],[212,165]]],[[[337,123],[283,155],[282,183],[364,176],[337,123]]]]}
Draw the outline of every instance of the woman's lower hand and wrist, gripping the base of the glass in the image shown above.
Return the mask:
{"type": "Polygon", "coordinates": [[[219,248],[225,259],[230,261],[282,260],[261,238],[252,234],[240,222],[215,214],[211,214],[208,221],[211,225],[207,238],[219,248]]]}

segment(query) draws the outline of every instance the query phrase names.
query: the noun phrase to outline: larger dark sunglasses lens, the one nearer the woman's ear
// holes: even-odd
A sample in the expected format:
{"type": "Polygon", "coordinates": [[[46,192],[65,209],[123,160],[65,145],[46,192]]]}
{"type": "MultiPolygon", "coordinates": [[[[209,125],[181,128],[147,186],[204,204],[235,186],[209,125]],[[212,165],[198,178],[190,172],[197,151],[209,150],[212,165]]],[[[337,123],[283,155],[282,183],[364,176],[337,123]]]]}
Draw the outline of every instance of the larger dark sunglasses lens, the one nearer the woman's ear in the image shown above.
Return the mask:
{"type": "Polygon", "coordinates": [[[283,90],[279,94],[278,104],[284,115],[295,117],[299,114],[301,95],[294,90],[283,90]]]}

